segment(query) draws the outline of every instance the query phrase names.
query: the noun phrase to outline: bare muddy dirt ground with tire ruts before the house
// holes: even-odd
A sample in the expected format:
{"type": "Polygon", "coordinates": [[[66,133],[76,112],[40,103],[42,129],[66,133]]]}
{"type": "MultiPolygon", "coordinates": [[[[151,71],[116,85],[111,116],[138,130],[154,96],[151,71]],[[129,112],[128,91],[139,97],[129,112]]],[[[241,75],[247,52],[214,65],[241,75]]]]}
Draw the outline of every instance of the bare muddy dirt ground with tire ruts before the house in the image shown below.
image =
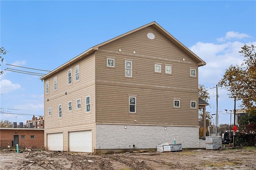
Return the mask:
{"type": "Polygon", "coordinates": [[[0,152],[0,170],[256,170],[256,150],[183,150],[92,155],[0,152]]]}

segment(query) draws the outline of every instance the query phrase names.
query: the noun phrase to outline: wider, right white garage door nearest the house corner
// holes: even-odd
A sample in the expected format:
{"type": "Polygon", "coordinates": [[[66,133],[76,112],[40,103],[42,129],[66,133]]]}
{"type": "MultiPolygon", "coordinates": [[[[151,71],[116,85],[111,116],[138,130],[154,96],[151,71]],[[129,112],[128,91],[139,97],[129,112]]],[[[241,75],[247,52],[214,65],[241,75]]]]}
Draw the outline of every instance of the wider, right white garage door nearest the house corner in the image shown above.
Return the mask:
{"type": "Polygon", "coordinates": [[[69,151],[92,152],[92,130],[69,132],[69,151]]]}

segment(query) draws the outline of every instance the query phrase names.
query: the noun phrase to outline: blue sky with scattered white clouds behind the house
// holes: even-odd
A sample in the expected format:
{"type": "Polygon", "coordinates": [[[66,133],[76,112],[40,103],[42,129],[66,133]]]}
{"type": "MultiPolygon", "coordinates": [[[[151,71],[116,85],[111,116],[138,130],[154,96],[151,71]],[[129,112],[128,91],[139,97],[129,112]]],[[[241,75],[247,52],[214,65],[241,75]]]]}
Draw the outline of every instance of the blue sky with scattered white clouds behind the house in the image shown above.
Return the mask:
{"type": "MultiPolygon", "coordinates": [[[[238,51],[244,44],[256,45],[256,1],[1,0],[0,20],[0,46],[8,51],[1,70],[25,71],[32,70],[6,63],[51,71],[94,45],[156,21],[206,61],[199,83],[210,93],[211,114],[216,113],[216,88],[210,87],[231,64],[242,63],[238,51]]],[[[0,105],[11,114],[1,113],[0,119],[25,123],[33,114],[44,115],[43,88],[39,76],[4,71],[0,105]]],[[[223,113],[234,109],[227,94],[218,88],[219,124],[230,123],[223,113]]]]}

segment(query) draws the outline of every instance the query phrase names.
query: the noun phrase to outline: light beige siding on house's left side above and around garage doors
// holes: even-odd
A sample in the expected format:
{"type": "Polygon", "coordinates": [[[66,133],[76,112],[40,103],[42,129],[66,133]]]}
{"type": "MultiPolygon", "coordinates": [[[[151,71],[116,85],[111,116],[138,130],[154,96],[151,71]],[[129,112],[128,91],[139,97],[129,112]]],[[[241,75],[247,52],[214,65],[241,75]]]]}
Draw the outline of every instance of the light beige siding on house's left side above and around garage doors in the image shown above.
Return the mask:
{"type": "MultiPolygon", "coordinates": [[[[46,133],[91,130],[94,134],[95,123],[95,63],[94,55],[66,67],[47,79],[50,93],[44,91],[45,138],[46,133]],[[79,65],[79,81],[75,81],[75,67],[79,65]],[[72,83],[68,84],[68,70],[72,69],[72,83]],[[58,77],[58,88],[54,91],[53,78],[58,77]],[[65,95],[65,92],[67,94],[65,95]],[[86,113],[86,96],[90,96],[90,112],[86,113]],[[48,101],[47,101],[48,99],[48,101]],[[76,100],[81,99],[81,109],[76,109],[76,100]],[[68,102],[72,101],[72,111],[68,111],[68,102]],[[62,105],[62,118],[58,117],[58,105],[62,105]],[[52,115],[48,116],[48,108],[52,115]]],[[[46,82],[46,81],[45,81],[46,82]]],[[[45,84],[45,83],[44,83],[45,84]]],[[[45,85],[44,85],[45,86],[45,85]]],[[[64,150],[68,149],[68,133],[64,133],[64,150]]],[[[95,138],[92,137],[94,147],[95,138]]],[[[46,144],[46,143],[45,143],[46,144]]]]}

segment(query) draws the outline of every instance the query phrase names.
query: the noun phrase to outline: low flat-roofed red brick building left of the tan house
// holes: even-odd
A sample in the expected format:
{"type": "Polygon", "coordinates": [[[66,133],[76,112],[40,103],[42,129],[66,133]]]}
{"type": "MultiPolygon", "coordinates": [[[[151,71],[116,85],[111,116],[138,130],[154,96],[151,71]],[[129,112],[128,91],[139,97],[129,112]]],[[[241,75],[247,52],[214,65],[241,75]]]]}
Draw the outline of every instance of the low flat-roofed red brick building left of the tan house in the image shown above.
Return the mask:
{"type": "Polygon", "coordinates": [[[0,149],[44,149],[44,129],[0,128],[0,149]]]}

